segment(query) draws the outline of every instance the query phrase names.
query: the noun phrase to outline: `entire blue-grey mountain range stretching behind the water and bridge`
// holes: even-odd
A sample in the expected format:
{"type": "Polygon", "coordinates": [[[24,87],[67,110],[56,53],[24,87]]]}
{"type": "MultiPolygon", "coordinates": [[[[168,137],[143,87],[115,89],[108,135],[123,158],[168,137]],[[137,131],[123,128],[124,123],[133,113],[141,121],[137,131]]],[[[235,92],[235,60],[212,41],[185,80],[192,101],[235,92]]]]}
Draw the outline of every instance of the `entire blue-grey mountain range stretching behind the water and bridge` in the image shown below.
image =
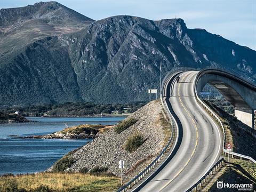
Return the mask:
{"type": "Polygon", "coordinates": [[[160,61],[163,77],[174,67],[211,66],[256,80],[256,51],[204,29],[188,29],[182,19],[118,15],[93,21],[46,2],[2,9],[0,23],[2,105],[146,101],[147,89],[159,88],[160,61]],[[30,22],[44,25],[34,30],[30,22]],[[20,31],[29,35],[20,37],[20,31]]]}

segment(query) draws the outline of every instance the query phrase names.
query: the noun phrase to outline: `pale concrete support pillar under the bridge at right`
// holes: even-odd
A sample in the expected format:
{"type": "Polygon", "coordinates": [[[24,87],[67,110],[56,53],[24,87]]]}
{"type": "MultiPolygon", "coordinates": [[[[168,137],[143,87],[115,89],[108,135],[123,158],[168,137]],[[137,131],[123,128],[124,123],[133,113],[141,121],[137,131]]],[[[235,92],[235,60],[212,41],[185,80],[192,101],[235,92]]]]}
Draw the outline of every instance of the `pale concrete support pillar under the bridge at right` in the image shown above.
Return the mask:
{"type": "Polygon", "coordinates": [[[254,110],[235,108],[235,116],[238,120],[254,129],[254,110]]]}

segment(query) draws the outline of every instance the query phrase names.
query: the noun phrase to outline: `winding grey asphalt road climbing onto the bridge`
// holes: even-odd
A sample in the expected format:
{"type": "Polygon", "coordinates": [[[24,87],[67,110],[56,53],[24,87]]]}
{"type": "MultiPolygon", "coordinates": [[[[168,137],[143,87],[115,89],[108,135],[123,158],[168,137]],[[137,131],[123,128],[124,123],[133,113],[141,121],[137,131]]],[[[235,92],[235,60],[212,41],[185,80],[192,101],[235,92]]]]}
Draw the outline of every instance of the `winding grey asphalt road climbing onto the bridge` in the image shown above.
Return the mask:
{"type": "Polygon", "coordinates": [[[194,93],[197,71],[180,75],[169,101],[181,124],[181,143],[171,161],[140,191],[186,191],[219,160],[221,136],[213,119],[198,105],[194,93]]]}

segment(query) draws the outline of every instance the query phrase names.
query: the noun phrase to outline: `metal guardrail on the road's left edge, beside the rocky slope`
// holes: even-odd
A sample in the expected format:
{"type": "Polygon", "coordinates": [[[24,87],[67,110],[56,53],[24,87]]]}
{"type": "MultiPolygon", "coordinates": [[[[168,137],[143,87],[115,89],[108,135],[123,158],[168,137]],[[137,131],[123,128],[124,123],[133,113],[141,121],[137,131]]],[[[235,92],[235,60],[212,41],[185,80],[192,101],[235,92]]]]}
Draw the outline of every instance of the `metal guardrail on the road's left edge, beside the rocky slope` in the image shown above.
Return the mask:
{"type": "MultiPolygon", "coordinates": [[[[162,97],[161,97],[161,103],[162,103],[163,109],[164,109],[167,117],[169,118],[171,126],[172,126],[171,137],[170,137],[167,145],[164,147],[164,149],[161,151],[161,153],[154,159],[154,161],[151,162],[143,171],[141,171],[139,174],[137,174],[133,179],[131,179],[129,182],[127,182],[123,187],[119,188],[117,190],[117,192],[125,192],[126,189],[130,189],[132,187],[132,185],[135,185],[136,183],[138,183],[138,181],[143,179],[145,177],[145,175],[156,166],[156,163],[159,162],[159,160],[163,157],[164,153],[167,150],[169,150],[169,148],[171,147],[171,143],[172,143],[172,140],[174,137],[174,127],[178,127],[178,124],[175,121],[174,117],[172,116],[170,110],[167,108],[166,101],[165,100],[163,101],[162,97]]],[[[176,143],[177,143],[177,140],[176,140],[174,146],[176,145],[176,143]]]]}

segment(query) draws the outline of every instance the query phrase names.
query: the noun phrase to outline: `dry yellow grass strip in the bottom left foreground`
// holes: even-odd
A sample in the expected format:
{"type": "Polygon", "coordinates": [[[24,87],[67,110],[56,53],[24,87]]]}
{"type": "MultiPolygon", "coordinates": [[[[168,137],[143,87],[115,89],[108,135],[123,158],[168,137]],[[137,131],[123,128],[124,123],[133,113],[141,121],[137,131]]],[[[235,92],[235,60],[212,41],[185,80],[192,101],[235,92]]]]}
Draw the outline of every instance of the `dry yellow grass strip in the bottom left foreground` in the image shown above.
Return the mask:
{"type": "Polygon", "coordinates": [[[118,187],[119,179],[116,177],[82,173],[38,173],[0,177],[1,192],[115,191],[118,187]]]}

